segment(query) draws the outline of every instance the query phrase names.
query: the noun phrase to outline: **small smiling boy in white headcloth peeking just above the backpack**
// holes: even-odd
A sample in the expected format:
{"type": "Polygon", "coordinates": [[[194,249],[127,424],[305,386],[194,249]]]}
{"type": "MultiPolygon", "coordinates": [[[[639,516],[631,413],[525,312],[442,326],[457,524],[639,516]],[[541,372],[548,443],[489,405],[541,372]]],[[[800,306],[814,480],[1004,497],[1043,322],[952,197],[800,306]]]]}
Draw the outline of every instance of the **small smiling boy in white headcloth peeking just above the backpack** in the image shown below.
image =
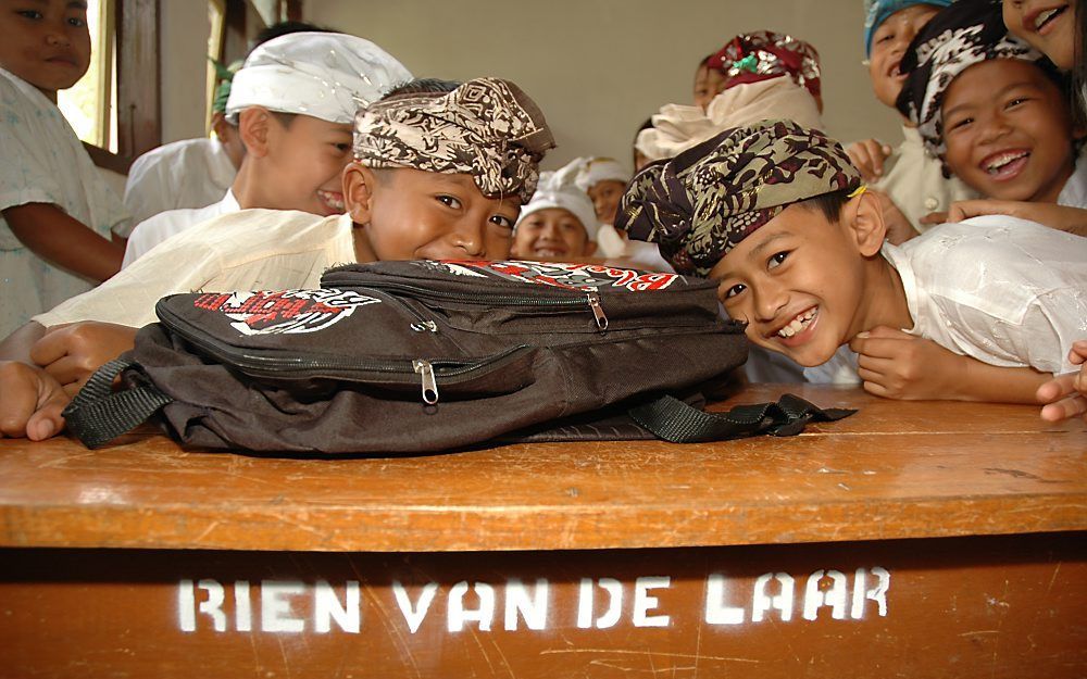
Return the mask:
{"type": "Polygon", "coordinates": [[[577,165],[545,172],[532,200],[521,211],[510,253],[540,262],[580,261],[597,251],[592,202],[575,183],[577,165]]]}

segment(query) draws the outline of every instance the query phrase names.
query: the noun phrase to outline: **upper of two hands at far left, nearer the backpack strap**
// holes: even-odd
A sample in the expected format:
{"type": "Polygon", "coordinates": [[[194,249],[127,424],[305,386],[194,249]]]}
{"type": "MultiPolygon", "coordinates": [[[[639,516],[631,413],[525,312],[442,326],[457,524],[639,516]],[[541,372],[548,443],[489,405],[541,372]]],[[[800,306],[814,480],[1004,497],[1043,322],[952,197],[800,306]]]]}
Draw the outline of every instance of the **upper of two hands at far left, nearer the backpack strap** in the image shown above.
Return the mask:
{"type": "Polygon", "coordinates": [[[133,348],[136,328],[87,320],[49,328],[30,360],[75,395],[95,370],[133,348]]]}

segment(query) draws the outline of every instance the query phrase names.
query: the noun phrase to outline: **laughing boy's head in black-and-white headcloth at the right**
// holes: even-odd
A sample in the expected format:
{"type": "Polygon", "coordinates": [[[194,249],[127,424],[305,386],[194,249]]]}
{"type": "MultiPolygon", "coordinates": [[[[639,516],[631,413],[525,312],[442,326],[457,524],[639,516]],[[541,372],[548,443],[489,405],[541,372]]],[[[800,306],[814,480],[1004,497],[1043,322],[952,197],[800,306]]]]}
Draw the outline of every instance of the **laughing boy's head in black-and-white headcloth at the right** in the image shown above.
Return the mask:
{"type": "MultiPolygon", "coordinates": [[[[1087,164],[1076,165],[1084,130],[1073,123],[1067,84],[1007,32],[999,2],[960,0],[941,11],[902,68],[899,110],[946,172],[989,199],[1087,208],[1087,164]]],[[[1020,214],[1087,234],[1084,219],[1053,223],[1050,212],[1020,214]]]]}

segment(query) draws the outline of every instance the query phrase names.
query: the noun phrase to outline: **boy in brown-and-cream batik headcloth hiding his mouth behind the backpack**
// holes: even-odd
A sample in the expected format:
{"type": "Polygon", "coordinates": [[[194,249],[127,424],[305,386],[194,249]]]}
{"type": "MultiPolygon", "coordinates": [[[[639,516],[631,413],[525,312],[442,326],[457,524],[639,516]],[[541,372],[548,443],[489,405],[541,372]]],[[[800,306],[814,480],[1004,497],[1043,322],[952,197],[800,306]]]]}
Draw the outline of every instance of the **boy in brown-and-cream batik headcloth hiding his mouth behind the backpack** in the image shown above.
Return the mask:
{"type": "Polygon", "coordinates": [[[347,214],[246,210],[205,222],[5,340],[0,356],[12,360],[0,362],[0,433],[59,432],[65,385],[74,391],[129,349],[134,328],[154,322],[165,294],[314,288],[326,268],[347,262],[509,256],[521,204],[554,146],[536,103],[496,78],[387,97],[359,112],[354,141],[355,161],[343,172],[347,214]],[[178,269],[178,257],[188,266],[178,269]],[[42,338],[42,325],[87,319],[107,323],[42,338]],[[80,340],[90,350],[76,355],[80,340]]]}

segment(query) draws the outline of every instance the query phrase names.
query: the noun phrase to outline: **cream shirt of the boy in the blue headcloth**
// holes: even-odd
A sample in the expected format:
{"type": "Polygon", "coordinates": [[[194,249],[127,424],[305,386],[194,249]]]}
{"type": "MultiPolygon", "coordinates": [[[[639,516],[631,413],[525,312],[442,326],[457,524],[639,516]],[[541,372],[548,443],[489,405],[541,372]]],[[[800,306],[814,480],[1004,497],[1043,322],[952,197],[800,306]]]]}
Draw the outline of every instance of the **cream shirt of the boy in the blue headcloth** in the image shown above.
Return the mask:
{"type": "Polygon", "coordinates": [[[904,125],[902,143],[884,161],[884,176],[872,188],[890,196],[920,234],[932,228],[921,217],[947,212],[954,201],[980,198],[958,177],[946,179],[939,159],[925,152],[921,133],[904,125]]]}

